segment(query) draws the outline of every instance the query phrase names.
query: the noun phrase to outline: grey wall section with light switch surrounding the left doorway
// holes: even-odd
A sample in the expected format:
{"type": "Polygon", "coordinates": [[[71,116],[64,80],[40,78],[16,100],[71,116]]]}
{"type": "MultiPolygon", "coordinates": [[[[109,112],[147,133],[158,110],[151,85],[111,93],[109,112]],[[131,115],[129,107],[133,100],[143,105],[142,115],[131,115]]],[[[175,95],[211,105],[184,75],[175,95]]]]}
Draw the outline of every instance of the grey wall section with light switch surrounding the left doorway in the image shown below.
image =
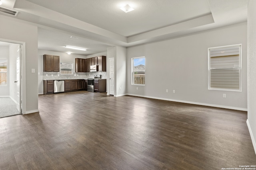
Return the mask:
{"type": "Polygon", "coordinates": [[[38,111],[38,32],[37,27],[16,18],[0,15],[0,39],[26,43],[26,113],[38,111]],[[36,73],[32,73],[32,68],[36,73]]]}

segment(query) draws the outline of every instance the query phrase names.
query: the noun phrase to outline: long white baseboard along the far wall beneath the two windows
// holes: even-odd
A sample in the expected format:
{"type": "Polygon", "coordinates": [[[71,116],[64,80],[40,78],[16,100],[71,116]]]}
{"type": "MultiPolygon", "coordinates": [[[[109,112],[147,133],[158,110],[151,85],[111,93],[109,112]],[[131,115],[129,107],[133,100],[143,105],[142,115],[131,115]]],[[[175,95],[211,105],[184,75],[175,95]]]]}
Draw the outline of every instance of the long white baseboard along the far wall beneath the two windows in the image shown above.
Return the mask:
{"type": "Polygon", "coordinates": [[[196,104],[196,105],[202,105],[202,106],[219,107],[219,108],[224,108],[224,109],[233,109],[233,110],[247,111],[246,108],[240,108],[240,107],[222,106],[222,105],[215,105],[215,104],[205,104],[205,103],[190,102],[190,101],[184,101],[184,100],[174,100],[174,99],[168,99],[168,98],[158,98],[158,97],[152,97],[152,96],[143,96],[143,95],[138,95],[138,94],[126,94],[126,95],[138,96],[138,97],[143,97],[143,98],[152,98],[152,99],[158,99],[158,100],[167,100],[167,101],[171,101],[171,102],[180,102],[180,103],[196,104]]]}

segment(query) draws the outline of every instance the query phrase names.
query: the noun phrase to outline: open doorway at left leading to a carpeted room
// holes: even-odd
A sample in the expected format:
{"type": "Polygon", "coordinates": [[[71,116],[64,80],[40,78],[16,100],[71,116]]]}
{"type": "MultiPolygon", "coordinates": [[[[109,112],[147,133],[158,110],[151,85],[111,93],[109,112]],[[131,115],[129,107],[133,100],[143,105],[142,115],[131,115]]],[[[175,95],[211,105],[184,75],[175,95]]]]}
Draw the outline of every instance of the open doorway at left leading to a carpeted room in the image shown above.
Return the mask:
{"type": "Polygon", "coordinates": [[[0,86],[0,117],[26,113],[24,107],[25,63],[23,62],[25,49],[24,42],[0,39],[0,51],[2,53],[5,50],[4,57],[8,63],[6,84],[0,86]],[[7,47],[3,47],[4,45],[7,47]]]}

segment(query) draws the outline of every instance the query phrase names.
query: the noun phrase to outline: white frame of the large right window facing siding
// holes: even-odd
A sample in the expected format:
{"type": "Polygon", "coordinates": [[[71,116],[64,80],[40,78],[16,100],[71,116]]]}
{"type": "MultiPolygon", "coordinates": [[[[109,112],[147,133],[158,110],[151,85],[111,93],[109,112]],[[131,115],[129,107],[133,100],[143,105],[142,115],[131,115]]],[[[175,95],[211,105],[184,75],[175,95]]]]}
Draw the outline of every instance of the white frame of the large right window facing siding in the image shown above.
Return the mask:
{"type": "Polygon", "coordinates": [[[235,45],[226,45],[226,46],[220,46],[220,47],[211,47],[208,48],[208,90],[225,90],[225,91],[236,91],[236,92],[242,92],[242,44],[235,44],[235,45]],[[225,49],[228,47],[239,47],[239,66],[238,67],[228,67],[228,68],[213,68],[210,66],[210,50],[211,49],[225,49]],[[217,70],[217,69],[236,69],[239,71],[239,89],[232,89],[232,88],[212,88],[211,85],[211,70],[217,70]]]}

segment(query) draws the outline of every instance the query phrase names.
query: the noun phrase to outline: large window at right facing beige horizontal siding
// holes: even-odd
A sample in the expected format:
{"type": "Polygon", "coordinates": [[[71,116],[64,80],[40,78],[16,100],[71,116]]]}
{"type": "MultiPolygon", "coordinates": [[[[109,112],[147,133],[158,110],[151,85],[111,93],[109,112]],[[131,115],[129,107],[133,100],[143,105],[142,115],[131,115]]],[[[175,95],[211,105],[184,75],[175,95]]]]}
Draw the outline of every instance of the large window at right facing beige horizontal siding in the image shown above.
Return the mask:
{"type": "Polygon", "coordinates": [[[208,49],[208,89],[242,91],[241,46],[208,49]]]}

